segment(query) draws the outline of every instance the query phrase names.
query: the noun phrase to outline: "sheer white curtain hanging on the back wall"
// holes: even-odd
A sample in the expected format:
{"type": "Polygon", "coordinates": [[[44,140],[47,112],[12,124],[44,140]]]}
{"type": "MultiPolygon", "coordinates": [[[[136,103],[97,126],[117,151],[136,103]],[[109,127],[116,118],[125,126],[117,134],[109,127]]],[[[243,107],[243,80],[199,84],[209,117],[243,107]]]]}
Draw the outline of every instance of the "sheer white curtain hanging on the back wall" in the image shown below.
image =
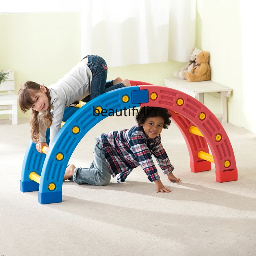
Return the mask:
{"type": "Polygon", "coordinates": [[[196,0],[85,0],[81,57],[102,56],[109,67],[189,61],[195,46],[196,0]]]}

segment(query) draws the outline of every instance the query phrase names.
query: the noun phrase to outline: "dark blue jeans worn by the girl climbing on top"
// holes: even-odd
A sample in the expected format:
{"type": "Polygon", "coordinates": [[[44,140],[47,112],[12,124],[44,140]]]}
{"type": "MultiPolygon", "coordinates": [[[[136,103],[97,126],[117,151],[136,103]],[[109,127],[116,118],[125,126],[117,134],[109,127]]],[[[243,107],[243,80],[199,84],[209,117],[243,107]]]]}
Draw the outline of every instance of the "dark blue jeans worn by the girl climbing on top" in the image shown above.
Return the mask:
{"type": "Polygon", "coordinates": [[[87,55],[84,58],[86,57],[88,58],[87,66],[92,71],[91,96],[88,95],[82,101],[88,102],[104,92],[124,87],[123,83],[113,85],[113,80],[106,83],[108,66],[103,58],[98,55],[87,55]]]}

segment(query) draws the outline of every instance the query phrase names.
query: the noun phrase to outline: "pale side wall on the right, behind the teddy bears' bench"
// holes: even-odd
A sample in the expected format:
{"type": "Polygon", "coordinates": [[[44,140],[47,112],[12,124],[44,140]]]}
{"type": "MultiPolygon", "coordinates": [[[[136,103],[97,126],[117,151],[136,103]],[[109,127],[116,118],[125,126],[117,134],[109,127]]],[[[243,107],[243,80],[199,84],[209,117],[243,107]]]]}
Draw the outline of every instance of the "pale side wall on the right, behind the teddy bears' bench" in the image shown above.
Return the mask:
{"type": "MultiPolygon", "coordinates": [[[[251,30],[256,22],[254,10],[246,1],[197,0],[196,46],[210,54],[211,80],[233,89],[228,98],[228,122],[256,134],[252,76],[256,54],[252,51],[255,45],[249,44],[255,41],[251,30]]],[[[220,113],[218,93],[205,94],[204,104],[220,113]]]]}

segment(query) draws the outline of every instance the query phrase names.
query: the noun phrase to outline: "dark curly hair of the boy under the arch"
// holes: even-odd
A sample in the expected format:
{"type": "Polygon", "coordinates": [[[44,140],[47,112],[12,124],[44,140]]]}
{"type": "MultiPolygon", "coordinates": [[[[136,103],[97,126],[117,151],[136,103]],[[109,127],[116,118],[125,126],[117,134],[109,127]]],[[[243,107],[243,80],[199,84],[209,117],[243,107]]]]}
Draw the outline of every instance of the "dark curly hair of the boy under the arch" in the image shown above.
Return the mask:
{"type": "Polygon", "coordinates": [[[164,119],[164,129],[168,129],[171,124],[171,114],[167,108],[157,108],[157,107],[142,107],[140,108],[139,114],[135,116],[136,122],[138,124],[144,124],[148,117],[160,116],[164,119]]]}

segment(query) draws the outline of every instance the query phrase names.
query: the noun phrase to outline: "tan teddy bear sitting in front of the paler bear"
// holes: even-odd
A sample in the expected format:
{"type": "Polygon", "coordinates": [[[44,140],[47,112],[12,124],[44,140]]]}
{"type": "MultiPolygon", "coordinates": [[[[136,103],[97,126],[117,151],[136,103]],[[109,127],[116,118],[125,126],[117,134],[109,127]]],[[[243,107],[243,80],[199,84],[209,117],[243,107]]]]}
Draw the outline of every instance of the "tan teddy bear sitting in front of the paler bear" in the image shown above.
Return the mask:
{"type": "Polygon", "coordinates": [[[200,52],[197,55],[196,63],[198,64],[196,67],[192,68],[191,72],[187,72],[185,74],[185,78],[189,82],[198,82],[198,81],[208,81],[211,78],[211,69],[209,66],[209,53],[208,52],[200,52]],[[193,74],[194,73],[194,74],[193,74]]]}

